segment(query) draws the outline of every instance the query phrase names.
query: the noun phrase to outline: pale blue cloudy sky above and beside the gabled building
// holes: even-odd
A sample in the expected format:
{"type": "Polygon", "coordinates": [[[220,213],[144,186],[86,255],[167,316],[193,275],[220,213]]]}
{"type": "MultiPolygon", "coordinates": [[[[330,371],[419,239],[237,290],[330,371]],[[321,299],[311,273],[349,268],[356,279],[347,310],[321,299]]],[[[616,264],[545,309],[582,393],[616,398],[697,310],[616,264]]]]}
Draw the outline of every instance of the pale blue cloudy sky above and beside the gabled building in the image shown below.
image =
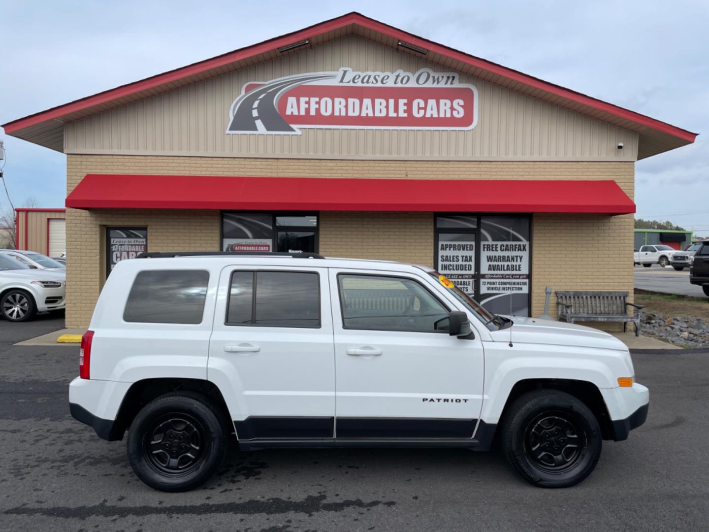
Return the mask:
{"type": "MultiPolygon", "coordinates": [[[[701,133],[693,145],[637,163],[636,216],[709,235],[706,0],[0,0],[0,7],[0,123],[359,11],[701,133]]],[[[15,206],[30,196],[39,206],[64,206],[65,155],[0,139],[15,206]]],[[[0,206],[10,211],[2,189],[0,206]]]]}

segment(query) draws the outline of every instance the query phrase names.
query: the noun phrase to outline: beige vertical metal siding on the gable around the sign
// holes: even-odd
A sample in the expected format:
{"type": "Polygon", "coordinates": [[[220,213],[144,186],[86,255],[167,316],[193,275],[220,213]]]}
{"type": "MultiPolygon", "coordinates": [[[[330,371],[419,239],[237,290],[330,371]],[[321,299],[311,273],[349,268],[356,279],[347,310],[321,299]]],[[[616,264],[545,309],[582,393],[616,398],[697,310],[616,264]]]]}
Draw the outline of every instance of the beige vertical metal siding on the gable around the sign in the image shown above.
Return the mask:
{"type": "Polygon", "coordinates": [[[227,135],[247,82],[350,67],[415,72],[431,62],[349,35],[259,65],[82,118],[65,128],[72,154],[338,157],[451,160],[635,160],[638,135],[495,84],[461,75],[479,93],[472,131],[303,129],[302,135],[227,135]],[[618,143],[625,148],[618,150],[618,143]]]}

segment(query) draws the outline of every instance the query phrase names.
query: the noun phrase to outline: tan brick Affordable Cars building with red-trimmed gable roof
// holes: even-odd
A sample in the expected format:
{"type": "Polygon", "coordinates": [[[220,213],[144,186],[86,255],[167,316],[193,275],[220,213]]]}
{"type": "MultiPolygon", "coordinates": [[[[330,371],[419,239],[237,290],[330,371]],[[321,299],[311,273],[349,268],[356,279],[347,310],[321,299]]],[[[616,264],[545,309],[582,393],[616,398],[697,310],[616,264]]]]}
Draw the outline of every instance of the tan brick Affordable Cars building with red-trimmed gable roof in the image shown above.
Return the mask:
{"type": "Polygon", "coordinates": [[[73,327],[145,250],[415,262],[502,314],[632,293],[635,161],[696,137],[359,13],[4,128],[67,154],[73,327]]]}

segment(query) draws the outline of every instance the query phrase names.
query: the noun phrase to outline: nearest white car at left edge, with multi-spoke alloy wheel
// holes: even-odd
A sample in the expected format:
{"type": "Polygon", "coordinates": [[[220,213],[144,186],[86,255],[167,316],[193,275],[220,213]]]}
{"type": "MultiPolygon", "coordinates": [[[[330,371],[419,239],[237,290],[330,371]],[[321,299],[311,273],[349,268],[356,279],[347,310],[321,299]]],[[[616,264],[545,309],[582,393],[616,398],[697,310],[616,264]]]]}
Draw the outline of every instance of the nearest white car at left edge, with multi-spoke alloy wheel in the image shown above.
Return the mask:
{"type": "Polygon", "coordinates": [[[27,321],[37,312],[64,309],[66,270],[33,269],[0,253],[0,314],[27,321]]]}

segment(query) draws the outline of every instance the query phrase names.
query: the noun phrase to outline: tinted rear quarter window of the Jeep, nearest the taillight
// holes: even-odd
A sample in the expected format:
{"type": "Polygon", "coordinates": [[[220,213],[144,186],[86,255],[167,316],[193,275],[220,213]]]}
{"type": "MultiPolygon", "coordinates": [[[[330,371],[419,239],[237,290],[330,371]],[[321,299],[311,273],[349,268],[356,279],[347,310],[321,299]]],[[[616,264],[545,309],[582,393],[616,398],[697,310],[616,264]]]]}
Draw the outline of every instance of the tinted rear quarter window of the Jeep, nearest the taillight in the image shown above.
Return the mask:
{"type": "Polygon", "coordinates": [[[135,276],[123,320],[133,323],[202,322],[209,272],[146,270],[135,276]]]}

